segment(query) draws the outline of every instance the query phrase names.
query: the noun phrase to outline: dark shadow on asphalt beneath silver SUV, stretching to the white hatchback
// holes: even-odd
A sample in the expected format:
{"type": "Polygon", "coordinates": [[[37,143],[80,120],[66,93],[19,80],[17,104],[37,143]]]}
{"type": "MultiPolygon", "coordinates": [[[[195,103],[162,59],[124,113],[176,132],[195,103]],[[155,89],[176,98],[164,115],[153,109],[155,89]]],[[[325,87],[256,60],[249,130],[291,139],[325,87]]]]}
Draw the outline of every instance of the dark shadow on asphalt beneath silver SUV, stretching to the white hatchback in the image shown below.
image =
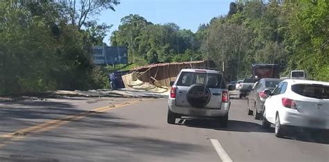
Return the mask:
{"type": "Polygon", "coordinates": [[[221,128],[220,123],[218,121],[210,119],[187,119],[185,120],[184,125],[186,125],[187,127],[201,127],[231,132],[273,132],[273,129],[262,129],[262,126],[258,123],[251,123],[241,120],[228,120],[227,128],[221,128]]]}

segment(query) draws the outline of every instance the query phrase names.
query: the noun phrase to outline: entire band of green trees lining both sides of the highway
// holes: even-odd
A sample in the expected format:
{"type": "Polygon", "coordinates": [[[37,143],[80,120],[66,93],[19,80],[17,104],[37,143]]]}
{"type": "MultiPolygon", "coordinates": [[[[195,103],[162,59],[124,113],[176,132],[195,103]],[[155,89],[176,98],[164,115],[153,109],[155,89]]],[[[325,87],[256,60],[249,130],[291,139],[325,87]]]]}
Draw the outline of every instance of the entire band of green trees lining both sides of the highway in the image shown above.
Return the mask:
{"type": "Polygon", "coordinates": [[[205,59],[224,64],[227,80],[250,76],[253,63],[273,63],[281,76],[303,69],[329,81],[328,1],[233,2],[228,15],[201,24],[196,33],[127,15],[110,43],[128,47],[130,64],[96,67],[90,46],[105,45],[111,25],[88,18],[118,4],[0,1],[0,94],[106,88],[115,69],[205,59]]]}

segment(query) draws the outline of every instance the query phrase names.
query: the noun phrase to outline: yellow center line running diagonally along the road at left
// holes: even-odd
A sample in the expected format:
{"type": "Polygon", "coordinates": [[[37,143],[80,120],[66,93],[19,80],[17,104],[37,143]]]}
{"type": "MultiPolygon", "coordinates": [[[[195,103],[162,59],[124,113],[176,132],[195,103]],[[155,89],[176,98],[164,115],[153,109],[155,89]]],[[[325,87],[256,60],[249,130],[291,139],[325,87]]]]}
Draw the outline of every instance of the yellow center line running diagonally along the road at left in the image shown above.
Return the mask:
{"type": "Polygon", "coordinates": [[[67,123],[70,123],[74,120],[79,120],[79,119],[84,118],[86,116],[89,116],[91,114],[110,111],[112,109],[118,109],[120,107],[133,105],[135,103],[142,102],[142,101],[144,101],[144,100],[133,100],[133,101],[129,101],[129,102],[120,103],[120,104],[117,104],[117,105],[99,107],[99,108],[96,108],[96,109],[92,109],[91,111],[83,112],[81,114],[65,116],[64,118],[55,119],[55,120],[49,120],[49,121],[41,123],[39,125],[35,125],[35,126],[32,126],[32,127],[27,127],[27,128],[24,128],[24,129],[19,129],[16,132],[13,132],[13,133],[3,134],[3,135],[0,135],[0,148],[12,143],[12,141],[22,140],[28,134],[47,132],[51,129],[55,129],[57,127],[60,127],[60,126],[65,125],[67,123]]]}

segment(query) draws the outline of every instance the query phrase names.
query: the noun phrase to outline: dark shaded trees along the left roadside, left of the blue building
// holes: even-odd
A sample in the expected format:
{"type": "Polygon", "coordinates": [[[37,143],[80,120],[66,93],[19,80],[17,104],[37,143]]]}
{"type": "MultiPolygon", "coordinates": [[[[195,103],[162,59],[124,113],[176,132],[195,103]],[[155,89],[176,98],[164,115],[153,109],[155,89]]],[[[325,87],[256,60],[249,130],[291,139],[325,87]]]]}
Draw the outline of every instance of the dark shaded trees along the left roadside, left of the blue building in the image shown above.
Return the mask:
{"type": "Polygon", "coordinates": [[[110,26],[87,17],[118,1],[0,1],[0,94],[106,87],[90,60],[110,26]],[[85,12],[78,12],[82,5],[85,12]]]}

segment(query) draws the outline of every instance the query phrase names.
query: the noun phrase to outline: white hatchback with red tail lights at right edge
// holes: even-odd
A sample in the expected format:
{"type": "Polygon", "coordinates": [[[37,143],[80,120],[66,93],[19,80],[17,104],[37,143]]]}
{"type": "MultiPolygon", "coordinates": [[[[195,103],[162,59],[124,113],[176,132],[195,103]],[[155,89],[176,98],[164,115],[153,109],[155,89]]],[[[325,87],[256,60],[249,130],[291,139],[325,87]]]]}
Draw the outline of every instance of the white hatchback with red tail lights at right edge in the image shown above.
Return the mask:
{"type": "Polygon", "coordinates": [[[283,80],[273,91],[264,91],[262,127],[275,126],[277,137],[289,126],[329,129],[329,82],[283,80]]]}

